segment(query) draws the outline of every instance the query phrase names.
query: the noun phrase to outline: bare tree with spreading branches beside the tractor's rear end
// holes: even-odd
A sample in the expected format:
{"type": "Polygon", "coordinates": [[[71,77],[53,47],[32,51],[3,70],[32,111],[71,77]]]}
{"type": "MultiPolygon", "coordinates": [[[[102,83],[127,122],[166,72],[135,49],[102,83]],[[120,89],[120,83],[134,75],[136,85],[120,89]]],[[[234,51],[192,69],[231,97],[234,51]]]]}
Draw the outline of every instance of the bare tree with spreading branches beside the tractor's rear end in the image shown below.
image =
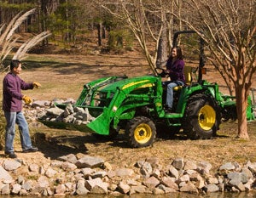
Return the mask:
{"type": "Polygon", "coordinates": [[[256,2],[187,0],[184,8],[183,22],[207,43],[211,54],[207,58],[223,76],[230,93],[235,90],[238,137],[248,139],[247,98],[256,71],[256,2]]]}

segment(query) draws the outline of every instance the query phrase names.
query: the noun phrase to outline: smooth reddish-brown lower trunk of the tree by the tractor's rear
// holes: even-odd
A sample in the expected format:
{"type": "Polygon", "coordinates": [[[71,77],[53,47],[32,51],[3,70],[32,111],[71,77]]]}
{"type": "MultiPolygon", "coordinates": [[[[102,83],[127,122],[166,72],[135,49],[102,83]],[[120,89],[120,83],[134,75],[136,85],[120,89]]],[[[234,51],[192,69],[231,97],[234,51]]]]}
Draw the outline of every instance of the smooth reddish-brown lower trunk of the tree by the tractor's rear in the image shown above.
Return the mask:
{"type": "Polygon", "coordinates": [[[249,139],[247,132],[247,95],[246,88],[242,85],[236,87],[236,112],[238,121],[237,137],[249,139]]]}

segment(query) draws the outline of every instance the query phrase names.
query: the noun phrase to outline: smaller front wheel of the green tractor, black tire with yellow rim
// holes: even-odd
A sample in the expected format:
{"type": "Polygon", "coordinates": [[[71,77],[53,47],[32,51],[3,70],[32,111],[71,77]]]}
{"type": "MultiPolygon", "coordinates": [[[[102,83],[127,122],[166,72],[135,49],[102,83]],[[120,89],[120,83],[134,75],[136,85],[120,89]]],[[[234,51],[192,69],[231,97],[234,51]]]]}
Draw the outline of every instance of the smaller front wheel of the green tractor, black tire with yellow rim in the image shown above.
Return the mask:
{"type": "Polygon", "coordinates": [[[125,128],[125,136],[132,148],[146,147],[153,144],[155,135],[154,122],[145,116],[134,117],[125,128]]]}

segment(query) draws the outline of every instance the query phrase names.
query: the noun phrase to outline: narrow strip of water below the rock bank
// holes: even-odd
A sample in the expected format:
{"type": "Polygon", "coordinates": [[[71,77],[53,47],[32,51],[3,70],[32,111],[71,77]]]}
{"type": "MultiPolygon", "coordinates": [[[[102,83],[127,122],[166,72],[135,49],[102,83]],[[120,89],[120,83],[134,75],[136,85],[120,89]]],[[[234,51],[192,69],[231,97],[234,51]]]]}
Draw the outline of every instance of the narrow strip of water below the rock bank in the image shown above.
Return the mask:
{"type": "MultiPolygon", "coordinates": [[[[1,198],[32,198],[31,196],[0,195],[1,198]]],[[[49,196],[50,197],[50,196],[49,196]]],[[[64,196],[63,196],[64,197],[64,196]]],[[[242,193],[208,193],[207,195],[194,195],[189,193],[171,193],[167,195],[134,194],[134,195],[66,195],[65,198],[256,198],[256,190],[242,193]]]]}

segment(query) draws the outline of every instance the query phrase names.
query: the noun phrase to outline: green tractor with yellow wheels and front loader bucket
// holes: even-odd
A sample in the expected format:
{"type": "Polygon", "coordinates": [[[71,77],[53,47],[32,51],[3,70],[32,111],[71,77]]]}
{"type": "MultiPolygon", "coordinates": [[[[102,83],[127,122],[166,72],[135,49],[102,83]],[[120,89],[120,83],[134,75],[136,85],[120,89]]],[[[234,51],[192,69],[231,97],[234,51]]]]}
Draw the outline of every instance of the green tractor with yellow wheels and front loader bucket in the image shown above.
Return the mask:
{"type": "MultiPolygon", "coordinates": [[[[178,31],[180,34],[193,31],[178,31]]],[[[201,42],[202,44],[202,42],[201,42]]],[[[197,67],[185,66],[186,85],[174,90],[172,113],[166,113],[164,104],[166,88],[163,86],[160,70],[157,76],[103,77],[84,84],[76,107],[87,108],[96,119],[86,125],[62,122],[44,122],[49,127],[72,127],[97,136],[114,137],[121,130],[131,147],[145,147],[154,143],[156,132],[182,132],[189,139],[211,139],[216,135],[220,123],[236,119],[236,100],[218,90],[217,83],[202,79],[204,71],[203,46],[197,67]]],[[[249,97],[247,119],[254,120],[253,103],[249,97]]],[[[57,104],[64,109],[66,105],[57,104]]]]}

